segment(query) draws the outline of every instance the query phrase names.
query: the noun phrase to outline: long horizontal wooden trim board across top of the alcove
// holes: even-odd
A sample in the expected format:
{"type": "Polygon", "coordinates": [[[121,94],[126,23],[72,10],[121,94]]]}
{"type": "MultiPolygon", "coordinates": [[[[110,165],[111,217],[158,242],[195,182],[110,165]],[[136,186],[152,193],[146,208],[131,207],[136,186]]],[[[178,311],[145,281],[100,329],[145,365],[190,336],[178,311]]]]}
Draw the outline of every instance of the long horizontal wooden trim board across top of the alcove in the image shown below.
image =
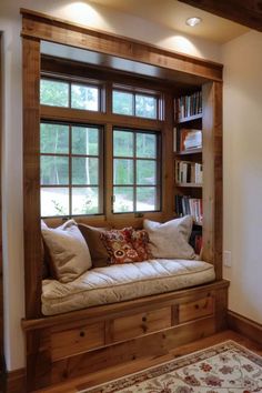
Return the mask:
{"type": "Polygon", "coordinates": [[[88,49],[109,56],[171,69],[209,80],[222,80],[222,64],[189,57],[141,41],[87,29],[77,23],[21,9],[22,36],[88,49]]]}

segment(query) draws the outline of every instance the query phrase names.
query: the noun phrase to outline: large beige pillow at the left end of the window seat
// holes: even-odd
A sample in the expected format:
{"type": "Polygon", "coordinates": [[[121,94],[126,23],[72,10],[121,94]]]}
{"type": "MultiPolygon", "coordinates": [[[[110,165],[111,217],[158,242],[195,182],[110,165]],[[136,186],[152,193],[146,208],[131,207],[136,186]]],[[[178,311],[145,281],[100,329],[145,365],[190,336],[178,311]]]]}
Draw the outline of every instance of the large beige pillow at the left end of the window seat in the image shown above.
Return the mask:
{"type": "Polygon", "coordinates": [[[41,230],[54,279],[70,282],[92,266],[88,245],[74,220],[56,229],[42,224],[41,230]]]}

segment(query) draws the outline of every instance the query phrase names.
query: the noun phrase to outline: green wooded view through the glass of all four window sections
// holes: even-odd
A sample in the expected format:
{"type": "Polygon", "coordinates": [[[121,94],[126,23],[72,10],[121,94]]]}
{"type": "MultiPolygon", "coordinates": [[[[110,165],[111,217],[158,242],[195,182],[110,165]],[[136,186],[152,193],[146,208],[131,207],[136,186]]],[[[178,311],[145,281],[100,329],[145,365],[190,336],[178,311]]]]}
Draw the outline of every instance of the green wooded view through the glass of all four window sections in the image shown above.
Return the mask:
{"type": "MultiPolygon", "coordinates": [[[[112,90],[112,113],[158,119],[158,97],[112,90]]],[[[40,103],[54,108],[101,111],[101,88],[68,80],[42,78],[40,103]]],[[[110,109],[107,109],[107,111],[110,109]]],[[[88,112],[87,112],[88,113],[88,112]]],[[[52,118],[53,119],[53,118],[52,118]]],[[[107,152],[107,124],[77,124],[44,120],[40,128],[41,215],[101,214],[103,157],[113,160],[113,212],[160,209],[160,157],[158,133],[113,128],[113,151],[107,152]],[[105,132],[105,131],[104,131],[105,132]]],[[[104,122],[104,120],[103,120],[104,122]]],[[[104,160],[105,161],[105,160],[104,160]]],[[[107,179],[105,179],[107,181],[107,179]]],[[[107,183],[108,184],[108,183],[107,183]]]]}

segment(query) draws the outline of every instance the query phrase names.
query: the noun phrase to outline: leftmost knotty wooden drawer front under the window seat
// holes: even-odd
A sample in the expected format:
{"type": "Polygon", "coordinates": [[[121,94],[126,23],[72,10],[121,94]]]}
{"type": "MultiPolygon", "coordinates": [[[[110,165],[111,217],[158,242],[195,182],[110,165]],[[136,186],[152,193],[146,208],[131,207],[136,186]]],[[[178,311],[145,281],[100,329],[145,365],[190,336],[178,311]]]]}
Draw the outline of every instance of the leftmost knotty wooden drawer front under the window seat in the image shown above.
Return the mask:
{"type": "Polygon", "coordinates": [[[56,332],[51,335],[53,361],[102,345],[104,345],[103,322],[56,332]]]}

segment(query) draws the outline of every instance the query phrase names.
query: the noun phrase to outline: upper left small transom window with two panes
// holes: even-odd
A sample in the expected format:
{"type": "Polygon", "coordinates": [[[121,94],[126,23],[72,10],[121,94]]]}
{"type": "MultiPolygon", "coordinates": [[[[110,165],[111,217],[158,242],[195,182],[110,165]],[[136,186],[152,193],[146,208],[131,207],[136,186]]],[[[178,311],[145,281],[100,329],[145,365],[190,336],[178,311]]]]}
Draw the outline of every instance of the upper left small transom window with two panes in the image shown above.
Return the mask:
{"type": "Polygon", "coordinates": [[[40,103],[43,105],[101,110],[101,88],[92,84],[41,79],[40,103]]]}

